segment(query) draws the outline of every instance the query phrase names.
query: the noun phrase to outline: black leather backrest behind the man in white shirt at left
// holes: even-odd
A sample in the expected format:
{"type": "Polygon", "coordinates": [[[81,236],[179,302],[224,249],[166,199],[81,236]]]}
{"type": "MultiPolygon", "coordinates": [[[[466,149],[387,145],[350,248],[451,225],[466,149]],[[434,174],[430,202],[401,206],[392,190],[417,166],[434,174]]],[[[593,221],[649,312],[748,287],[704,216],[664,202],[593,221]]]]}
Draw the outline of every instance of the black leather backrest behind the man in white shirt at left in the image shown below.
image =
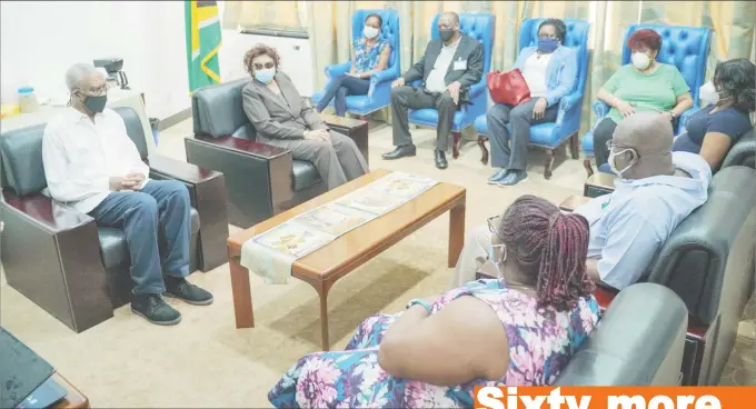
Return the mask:
{"type": "MultiPolygon", "coordinates": [[[[126,131],[137,146],[142,159],[147,158],[147,140],[137,111],[130,107],[119,107],[113,110],[123,118],[126,131]]],[[[16,194],[34,193],[47,188],[42,164],[44,127],[47,123],[38,123],[0,134],[2,187],[12,189],[16,194]]]]}

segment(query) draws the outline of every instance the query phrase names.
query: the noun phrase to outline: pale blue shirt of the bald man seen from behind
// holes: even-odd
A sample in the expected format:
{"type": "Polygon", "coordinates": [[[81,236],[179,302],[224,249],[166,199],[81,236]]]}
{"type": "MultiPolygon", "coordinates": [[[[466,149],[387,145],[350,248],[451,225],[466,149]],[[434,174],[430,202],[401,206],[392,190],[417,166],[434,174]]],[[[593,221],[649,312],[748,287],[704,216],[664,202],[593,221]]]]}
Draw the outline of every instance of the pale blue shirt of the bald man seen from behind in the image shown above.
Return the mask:
{"type": "Polygon", "coordinates": [[[708,199],[708,163],[689,152],[673,152],[673,163],[690,178],[616,179],[613,193],[575,209],[590,225],[588,258],[618,290],[638,281],[675,228],[708,199]]]}

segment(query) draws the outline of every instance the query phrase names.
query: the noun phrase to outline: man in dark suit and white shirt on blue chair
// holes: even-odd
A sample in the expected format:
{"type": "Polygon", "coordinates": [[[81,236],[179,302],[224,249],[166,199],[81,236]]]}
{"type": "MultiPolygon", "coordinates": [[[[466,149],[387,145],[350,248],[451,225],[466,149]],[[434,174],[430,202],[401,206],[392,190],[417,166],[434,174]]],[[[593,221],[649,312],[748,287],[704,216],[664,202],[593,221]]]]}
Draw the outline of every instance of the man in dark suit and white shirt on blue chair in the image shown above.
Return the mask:
{"type": "Polygon", "coordinates": [[[409,133],[408,109],[436,108],[436,167],[446,169],[446,150],[454,114],[461,103],[469,103],[470,86],[483,77],[483,46],[459,31],[459,16],[445,12],[438,19],[440,40],[431,40],[422,59],[391,83],[391,121],[396,149],[384,159],[415,156],[409,133]],[[415,80],[420,87],[412,87],[415,80]]]}

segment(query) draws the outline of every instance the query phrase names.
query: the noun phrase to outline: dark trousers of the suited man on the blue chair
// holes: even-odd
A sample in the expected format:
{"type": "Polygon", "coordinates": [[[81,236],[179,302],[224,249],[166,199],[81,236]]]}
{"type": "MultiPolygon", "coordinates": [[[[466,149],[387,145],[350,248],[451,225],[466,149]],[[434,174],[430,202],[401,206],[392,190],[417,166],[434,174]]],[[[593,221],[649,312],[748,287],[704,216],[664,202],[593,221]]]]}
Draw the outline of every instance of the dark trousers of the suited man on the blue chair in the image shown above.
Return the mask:
{"type": "Polygon", "coordinates": [[[436,108],[438,126],[436,127],[436,149],[446,151],[449,148],[449,133],[454,124],[457,106],[448,92],[429,92],[424,88],[401,86],[391,89],[391,127],[394,144],[402,147],[412,144],[409,134],[409,109],[436,108]]]}

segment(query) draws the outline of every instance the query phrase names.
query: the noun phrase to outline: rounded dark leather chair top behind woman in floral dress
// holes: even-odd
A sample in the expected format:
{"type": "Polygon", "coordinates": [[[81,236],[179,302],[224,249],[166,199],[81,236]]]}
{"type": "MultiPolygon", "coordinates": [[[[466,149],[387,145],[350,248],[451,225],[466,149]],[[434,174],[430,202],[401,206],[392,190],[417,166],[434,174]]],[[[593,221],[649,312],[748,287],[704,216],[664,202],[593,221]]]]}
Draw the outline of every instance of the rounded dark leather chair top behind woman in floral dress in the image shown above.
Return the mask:
{"type": "Polygon", "coordinates": [[[555,385],[677,386],[686,328],[685,303],[672,290],[647,282],[630,286],[615,298],[555,385]]]}

